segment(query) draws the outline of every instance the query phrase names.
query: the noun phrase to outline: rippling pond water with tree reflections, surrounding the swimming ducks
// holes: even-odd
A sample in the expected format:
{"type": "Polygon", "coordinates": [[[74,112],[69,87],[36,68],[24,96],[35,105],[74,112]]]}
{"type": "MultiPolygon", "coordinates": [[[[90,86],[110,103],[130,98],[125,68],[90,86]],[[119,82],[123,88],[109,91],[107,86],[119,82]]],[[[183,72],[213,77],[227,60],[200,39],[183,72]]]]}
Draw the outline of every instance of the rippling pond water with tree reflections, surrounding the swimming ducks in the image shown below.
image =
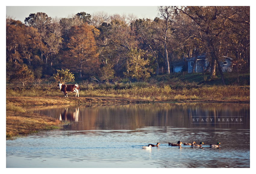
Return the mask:
{"type": "Polygon", "coordinates": [[[6,141],[7,168],[249,168],[250,104],[34,107],[67,125],[6,141]],[[196,144],[200,147],[170,143],[196,144]],[[160,143],[151,150],[148,144],[160,143]],[[209,144],[220,142],[219,148],[209,144]]]}

